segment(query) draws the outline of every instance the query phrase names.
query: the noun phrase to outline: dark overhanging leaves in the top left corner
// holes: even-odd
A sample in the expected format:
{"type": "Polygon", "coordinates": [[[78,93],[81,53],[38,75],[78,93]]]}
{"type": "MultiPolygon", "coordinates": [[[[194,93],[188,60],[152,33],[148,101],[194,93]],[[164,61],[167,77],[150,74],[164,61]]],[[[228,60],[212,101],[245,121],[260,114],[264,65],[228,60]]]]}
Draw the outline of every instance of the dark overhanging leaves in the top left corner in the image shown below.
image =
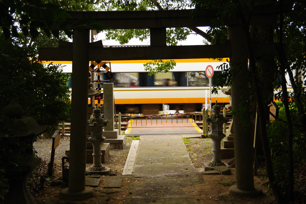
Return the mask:
{"type": "Polygon", "coordinates": [[[0,27],[6,39],[10,37],[31,36],[37,38],[41,33],[48,37],[58,38],[60,30],[50,30],[51,25],[58,24],[61,30],[69,37],[69,29],[81,29],[84,25],[92,25],[97,30],[104,27],[101,24],[92,24],[92,19],[80,19],[76,23],[67,20],[71,16],[65,10],[95,10],[96,5],[92,0],[75,1],[42,1],[42,0],[2,0],[0,1],[0,27]],[[19,25],[19,27],[17,27],[19,25]],[[21,33],[19,33],[21,31],[21,33]],[[21,36],[20,36],[21,35],[21,36]]]}

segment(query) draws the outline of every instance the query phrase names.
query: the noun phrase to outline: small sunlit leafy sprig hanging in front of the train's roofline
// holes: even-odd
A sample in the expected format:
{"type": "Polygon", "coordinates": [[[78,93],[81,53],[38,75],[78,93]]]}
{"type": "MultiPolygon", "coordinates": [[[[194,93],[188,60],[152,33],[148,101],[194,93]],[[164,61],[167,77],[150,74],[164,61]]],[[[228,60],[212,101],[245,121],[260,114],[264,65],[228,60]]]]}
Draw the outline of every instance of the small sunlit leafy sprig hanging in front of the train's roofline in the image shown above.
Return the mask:
{"type": "Polygon", "coordinates": [[[148,74],[151,76],[157,72],[169,72],[174,68],[175,65],[176,62],[174,60],[152,60],[144,64],[144,70],[148,71],[148,74]]]}

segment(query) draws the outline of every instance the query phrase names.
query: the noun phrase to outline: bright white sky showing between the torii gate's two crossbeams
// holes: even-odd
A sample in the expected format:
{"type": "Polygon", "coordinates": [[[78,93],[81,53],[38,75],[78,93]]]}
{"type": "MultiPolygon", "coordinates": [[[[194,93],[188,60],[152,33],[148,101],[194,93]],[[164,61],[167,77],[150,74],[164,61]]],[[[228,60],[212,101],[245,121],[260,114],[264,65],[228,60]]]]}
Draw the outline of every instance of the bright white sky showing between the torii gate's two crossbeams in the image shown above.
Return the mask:
{"type": "MultiPolygon", "coordinates": [[[[206,32],[208,27],[198,27],[198,28],[206,32]]],[[[105,32],[101,32],[97,35],[97,40],[103,40],[103,39],[106,39],[105,32]]],[[[103,40],[103,45],[113,46],[113,45],[120,45],[120,43],[116,40],[103,40]]],[[[150,39],[144,40],[143,42],[141,42],[138,39],[132,39],[126,45],[150,45],[150,39]]],[[[200,35],[191,34],[188,35],[186,40],[179,41],[177,45],[203,45],[203,37],[200,35]]]]}

